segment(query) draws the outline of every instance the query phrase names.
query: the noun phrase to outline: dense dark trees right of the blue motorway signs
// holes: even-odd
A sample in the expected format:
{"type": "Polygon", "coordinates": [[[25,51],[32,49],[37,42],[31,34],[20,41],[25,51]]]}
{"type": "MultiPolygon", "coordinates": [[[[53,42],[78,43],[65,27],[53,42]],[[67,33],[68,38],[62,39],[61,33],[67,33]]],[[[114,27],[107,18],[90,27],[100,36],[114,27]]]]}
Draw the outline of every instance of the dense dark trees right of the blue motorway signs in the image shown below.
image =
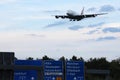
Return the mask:
{"type": "Polygon", "coordinates": [[[106,58],[90,58],[85,62],[87,69],[107,69],[110,70],[112,80],[120,80],[120,58],[107,61],[106,58]]]}

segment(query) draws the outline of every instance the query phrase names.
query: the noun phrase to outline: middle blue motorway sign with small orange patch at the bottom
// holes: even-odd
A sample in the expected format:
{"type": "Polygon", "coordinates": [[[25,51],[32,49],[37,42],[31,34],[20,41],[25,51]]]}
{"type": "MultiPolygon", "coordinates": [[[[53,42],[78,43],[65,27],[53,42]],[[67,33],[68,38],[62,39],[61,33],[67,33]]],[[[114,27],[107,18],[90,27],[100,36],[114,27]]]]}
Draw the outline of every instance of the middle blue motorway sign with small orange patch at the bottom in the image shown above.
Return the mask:
{"type": "Polygon", "coordinates": [[[44,61],[44,80],[63,80],[62,61],[44,61]]]}

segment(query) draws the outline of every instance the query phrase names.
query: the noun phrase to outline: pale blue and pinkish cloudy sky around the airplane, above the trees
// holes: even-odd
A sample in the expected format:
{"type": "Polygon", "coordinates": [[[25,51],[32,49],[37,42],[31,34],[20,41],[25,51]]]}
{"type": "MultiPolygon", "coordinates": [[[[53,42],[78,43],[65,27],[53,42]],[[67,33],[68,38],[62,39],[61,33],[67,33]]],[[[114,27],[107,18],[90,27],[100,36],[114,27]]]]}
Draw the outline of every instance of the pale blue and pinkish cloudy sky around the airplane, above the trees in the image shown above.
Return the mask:
{"type": "Polygon", "coordinates": [[[0,0],[0,51],[19,59],[120,57],[119,0],[0,0]],[[68,10],[108,13],[70,21],[55,19],[68,10]]]}

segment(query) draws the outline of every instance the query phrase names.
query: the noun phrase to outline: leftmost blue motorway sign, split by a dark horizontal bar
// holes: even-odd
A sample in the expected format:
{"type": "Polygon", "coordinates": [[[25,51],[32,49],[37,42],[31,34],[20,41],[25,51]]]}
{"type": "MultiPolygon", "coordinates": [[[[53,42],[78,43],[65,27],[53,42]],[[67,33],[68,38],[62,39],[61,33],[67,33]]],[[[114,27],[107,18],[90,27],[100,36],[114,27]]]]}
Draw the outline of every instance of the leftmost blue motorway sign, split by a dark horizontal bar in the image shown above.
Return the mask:
{"type": "MultiPolygon", "coordinates": [[[[36,65],[42,66],[40,60],[16,60],[15,65],[36,65]]],[[[37,80],[36,70],[14,70],[14,80],[37,80]]]]}

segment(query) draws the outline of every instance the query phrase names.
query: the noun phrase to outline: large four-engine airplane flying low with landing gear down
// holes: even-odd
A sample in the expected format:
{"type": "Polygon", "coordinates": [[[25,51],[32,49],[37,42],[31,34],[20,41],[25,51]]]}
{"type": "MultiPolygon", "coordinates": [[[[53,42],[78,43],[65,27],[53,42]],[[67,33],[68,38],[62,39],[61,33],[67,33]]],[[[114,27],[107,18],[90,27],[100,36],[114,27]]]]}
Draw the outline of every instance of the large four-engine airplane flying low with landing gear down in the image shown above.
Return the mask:
{"type": "Polygon", "coordinates": [[[91,17],[96,17],[98,15],[104,15],[104,14],[107,14],[107,13],[84,14],[84,8],[83,8],[80,15],[75,14],[73,11],[68,11],[66,13],[66,15],[55,15],[55,18],[56,19],[58,19],[58,18],[62,18],[62,19],[68,18],[68,19],[70,19],[70,21],[80,21],[84,18],[91,18],[91,17]]]}

